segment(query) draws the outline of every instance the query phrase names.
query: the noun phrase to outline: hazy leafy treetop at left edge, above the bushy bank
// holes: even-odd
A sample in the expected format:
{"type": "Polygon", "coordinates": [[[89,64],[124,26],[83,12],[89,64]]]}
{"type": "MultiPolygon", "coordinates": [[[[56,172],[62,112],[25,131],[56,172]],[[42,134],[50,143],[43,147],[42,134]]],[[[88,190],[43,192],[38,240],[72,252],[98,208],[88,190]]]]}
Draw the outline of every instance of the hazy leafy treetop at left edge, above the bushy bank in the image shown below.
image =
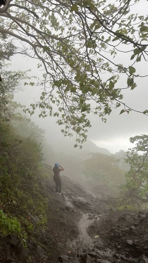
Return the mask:
{"type": "Polygon", "coordinates": [[[16,109],[24,108],[24,106],[22,106],[18,102],[14,102],[13,96],[17,90],[21,89],[21,80],[29,78],[27,76],[27,71],[22,72],[18,70],[17,72],[12,72],[10,70],[7,70],[9,64],[6,64],[6,60],[10,60],[15,51],[16,47],[12,44],[12,42],[1,40],[0,74],[2,77],[2,81],[0,82],[0,118],[6,119],[7,121],[14,118],[14,110],[15,118],[20,117],[19,114],[17,116],[16,109]]]}

